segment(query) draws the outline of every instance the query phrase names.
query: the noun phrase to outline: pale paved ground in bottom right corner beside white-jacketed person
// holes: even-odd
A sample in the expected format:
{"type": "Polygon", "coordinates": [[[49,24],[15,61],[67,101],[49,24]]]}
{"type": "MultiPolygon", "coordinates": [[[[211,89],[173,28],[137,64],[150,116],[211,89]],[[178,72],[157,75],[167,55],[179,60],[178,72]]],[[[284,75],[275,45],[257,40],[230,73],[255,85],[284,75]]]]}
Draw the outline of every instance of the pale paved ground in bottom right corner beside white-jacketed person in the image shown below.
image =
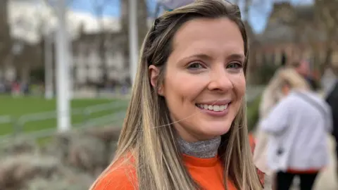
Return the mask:
{"type": "Polygon", "coordinates": [[[334,140],[329,138],[328,143],[330,144],[330,165],[323,170],[318,176],[315,184],[315,190],[337,190],[338,189],[338,177],[336,171],[336,156],[334,152],[334,140]]]}

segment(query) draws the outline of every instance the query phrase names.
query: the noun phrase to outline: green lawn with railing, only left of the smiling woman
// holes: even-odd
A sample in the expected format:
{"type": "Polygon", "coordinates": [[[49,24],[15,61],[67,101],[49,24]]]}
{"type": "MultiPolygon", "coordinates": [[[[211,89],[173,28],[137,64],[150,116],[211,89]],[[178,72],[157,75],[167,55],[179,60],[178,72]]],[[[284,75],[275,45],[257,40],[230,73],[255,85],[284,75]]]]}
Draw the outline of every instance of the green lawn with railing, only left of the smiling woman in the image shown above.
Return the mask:
{"type": "MultiPolygon", "coordinates": [[[[125,99],[74,99],[71,101],[71,108],[74,111],[80,110],[79,113],[72,113],[72,124],[81,125],[88,119],[100,118],[104,115],[112,115],[113,113],[126,110],[127,100],[125,99]],[[105,103],[112,103],[111,108],[108,106],[108,110],[96,110],[95,113],[90,115],[84,115],[82,113],[83,108],[88,106],[95,106],[105,103]],[[117,108],[113,107],[113,103],[118,104],[117,108]],[[80,108],[80,109],[77,109],[80,108]]],[[[24,132],[32,132],[40,129],[49,129],[56,127],[56,114],[50,113],[51,118],[45,120],[34,120],[27,121],[24,125],[17,124],[18,118],[23,115],[43,112],[53,112],[56,110],[56,99],[46,100],[43,97],[11,97],[11,96],[0,96],[0,118],[5,117],[6,115],[13,118],[12,123],[1,123],[0,119],[0,135],[10,134],[15,132],[14,127],[19,131],[23,130],[24,132]]],[[[109,117],[109,116],[108,116],[109,117]]],[[[32,118],[32,117],[30,117],[32,118]]],[[[37,118],[41,118],[38,116],[37,118]]],[[[123,118],[121,118],[123,119],[123,118]]]]}

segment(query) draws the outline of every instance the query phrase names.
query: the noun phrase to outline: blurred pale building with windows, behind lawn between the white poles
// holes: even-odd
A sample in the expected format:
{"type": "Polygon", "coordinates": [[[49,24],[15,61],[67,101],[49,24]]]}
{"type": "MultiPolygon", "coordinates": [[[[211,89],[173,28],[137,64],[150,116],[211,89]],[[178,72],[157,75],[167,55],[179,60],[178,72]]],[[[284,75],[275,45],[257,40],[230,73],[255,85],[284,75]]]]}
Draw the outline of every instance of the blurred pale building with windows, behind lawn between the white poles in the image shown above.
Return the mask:
{"type": "Polygon", "coordinates": [[[108,81],[123,83],[130,77],[123,55],[125,35],[113,32],[105,36],[105,55],[101,49],[100,34],[82,34],[73,42],[73,79],[75,84],[100,82],[107,70],[108,81]],[[104,60],[103,58],[106,58],[104,60]],[[106,64],[106,67],[105,65],[106,64]]]}

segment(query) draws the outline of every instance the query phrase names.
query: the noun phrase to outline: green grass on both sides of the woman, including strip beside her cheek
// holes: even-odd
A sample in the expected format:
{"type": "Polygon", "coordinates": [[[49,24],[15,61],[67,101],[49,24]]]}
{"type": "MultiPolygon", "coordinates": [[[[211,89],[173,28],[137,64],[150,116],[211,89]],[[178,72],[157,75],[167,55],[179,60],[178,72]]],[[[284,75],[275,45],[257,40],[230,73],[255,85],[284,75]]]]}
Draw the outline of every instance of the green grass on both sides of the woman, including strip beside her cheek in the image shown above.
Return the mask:
{"type": "MultiPolygon", "coordinates": [[[[258,120],[258,106],[261,101],[261,97],[258,96],[255,100],[248,104],[247,118],[249,130],[252,130],[258,120]]],[[[72,115],[72,124],[79,126],[86,120],[93,118],[100,118],[104,115],[110,115],[116,112],[124,111],[127,108],[128,101],[123,99],[74,99],[71,101],[71,108],[86,108],[88,106],[95,106],[104,103],[121,103],[122,106],[111,110],[103,110],[84,117],[83,114],[72,115]]],[[[42,97],[16,97],[0,96],[0,118],[4,115],[11,116],[14,121],[18,120],[23,115],[42,113],[56,110],[56,99],[46,100],[42,97]]],[[[119,125],[120,121],[117,121],[112,125],[119,125]]],[[[23,132],[34,132],[41,129],[50,129],[56,127],[56,118],[25,122],[24,125],[15,125],[15,123],[1,123],[0,122],[0,135],[13,134],[15,128],[23,132]]]]}

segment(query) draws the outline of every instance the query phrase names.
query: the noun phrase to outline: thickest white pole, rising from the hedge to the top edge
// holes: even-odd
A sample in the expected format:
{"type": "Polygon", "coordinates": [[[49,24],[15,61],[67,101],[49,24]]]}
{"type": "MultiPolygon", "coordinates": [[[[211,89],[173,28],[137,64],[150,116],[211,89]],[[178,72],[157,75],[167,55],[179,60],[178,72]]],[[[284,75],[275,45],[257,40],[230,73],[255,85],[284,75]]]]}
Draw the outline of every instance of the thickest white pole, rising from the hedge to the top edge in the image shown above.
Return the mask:
{"type": "Polygon", "coordinates": [[[56,14],[58,30],[56,32],[56,84],[58,131],[70,129],[70,97],[69,97],[69,46],[65,24],[66,0],[58,0],[56,14]]]}

